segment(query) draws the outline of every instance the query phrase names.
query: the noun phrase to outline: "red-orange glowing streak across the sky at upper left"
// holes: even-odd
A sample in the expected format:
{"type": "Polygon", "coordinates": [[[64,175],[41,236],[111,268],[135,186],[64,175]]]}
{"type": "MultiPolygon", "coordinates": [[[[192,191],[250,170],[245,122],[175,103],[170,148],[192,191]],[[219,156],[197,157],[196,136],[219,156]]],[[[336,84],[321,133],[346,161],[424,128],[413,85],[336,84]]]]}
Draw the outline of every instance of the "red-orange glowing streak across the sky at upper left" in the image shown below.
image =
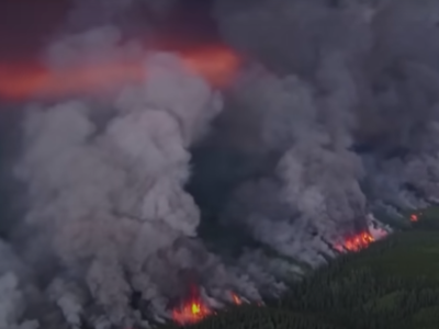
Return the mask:
{"type": "MultiPolygon", "coordinates": [[[[188,69],[215,88],[226,87],[240,65],[240,58],[221,45],[173,53],[180,56],[188,69]]],[[[53,71],[37,63],[0,63],[0,98],[22,101],[34,97],[95,94],[126,83],[142,82],[145,79],[144,65],[145,58],[124,63],[103,60],[53,71]]]]}

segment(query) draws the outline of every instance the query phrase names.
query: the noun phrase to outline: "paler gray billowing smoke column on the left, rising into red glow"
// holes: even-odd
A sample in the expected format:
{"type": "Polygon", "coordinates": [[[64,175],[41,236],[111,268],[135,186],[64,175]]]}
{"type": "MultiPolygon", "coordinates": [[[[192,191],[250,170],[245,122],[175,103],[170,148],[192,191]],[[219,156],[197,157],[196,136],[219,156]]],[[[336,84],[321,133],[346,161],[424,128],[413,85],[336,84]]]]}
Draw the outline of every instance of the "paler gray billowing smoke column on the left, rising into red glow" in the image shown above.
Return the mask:
{"type": "MultiPolygon", "coordinates": [[[[63,49],[69,44],[64,41],[52,56],[70,54],[63,49]]],[[[87,52],[79,55],[99,55],[87,52]]],[[[199,273],[217,300],[227,299],[224,286],[247,285],[193,239],[200,212],[183,190],[188,148],[203,137],[222,98],[175,55],[150,53],[146,70],[144,84],[128,86],[108,102],[36,106],[23,123],[24,150],[15,168],[29,191],[22,229],[35,229],[25,254],[36,266],[57,260],[47,294],[74,327],[81,318],[98,328],[133,325],[134,291],[150,303],[150,314],[168,316],[169,300],[187,288],[184,271],[199,273]],[[41,240],[46,249],[37,246],[41,240]]],[[[258,297],[251,285],[247,294],[258,297]]]]}

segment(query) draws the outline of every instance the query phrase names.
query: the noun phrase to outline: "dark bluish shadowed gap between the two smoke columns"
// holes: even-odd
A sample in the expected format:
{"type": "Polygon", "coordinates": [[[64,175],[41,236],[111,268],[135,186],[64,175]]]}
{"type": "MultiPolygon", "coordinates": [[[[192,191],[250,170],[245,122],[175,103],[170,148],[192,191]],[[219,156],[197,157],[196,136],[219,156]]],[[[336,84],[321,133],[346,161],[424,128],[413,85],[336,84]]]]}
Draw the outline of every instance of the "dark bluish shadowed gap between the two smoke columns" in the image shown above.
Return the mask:
{"type": "Polygon", "coordinates": [[[244,248],[262,246],[239,223],[224,224],[222,217],[234,191],[247,181],[270,177],[278,157],[248,152],[229,143],[230,129],[223,115],[227,114],[213,122],[210,136],[190,150],[191,179],[185,191],[201,212],[198,236],[205,246],[215,253],[237,257],[244,248]]]}

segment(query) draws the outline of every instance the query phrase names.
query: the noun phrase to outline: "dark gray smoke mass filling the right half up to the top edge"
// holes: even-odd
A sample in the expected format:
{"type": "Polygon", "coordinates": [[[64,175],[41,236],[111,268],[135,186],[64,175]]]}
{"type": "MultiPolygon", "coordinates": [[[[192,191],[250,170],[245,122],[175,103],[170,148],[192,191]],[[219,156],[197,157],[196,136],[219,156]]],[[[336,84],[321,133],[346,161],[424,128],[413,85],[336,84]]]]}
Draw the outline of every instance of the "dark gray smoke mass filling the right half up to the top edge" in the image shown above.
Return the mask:
{"type": "Polygon", "coordinates": [[[271,159],[235,182],[224,223],[318,263],[368,212],[437,202],[436,1],[217,0],[214,13],[264,68],[243,72],[212,144],[271,159]]]}

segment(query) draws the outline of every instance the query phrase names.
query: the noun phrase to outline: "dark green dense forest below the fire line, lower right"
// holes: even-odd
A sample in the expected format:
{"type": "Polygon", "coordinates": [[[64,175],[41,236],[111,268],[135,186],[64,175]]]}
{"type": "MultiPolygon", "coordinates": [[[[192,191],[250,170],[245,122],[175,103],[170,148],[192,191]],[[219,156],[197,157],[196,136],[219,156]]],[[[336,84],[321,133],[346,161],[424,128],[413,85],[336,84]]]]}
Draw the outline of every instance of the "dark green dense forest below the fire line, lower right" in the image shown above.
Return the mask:
{"type": "Polygon", "coordinates": [[[236,306],[185,328],[438,329],[439,209],[319,269],[280,300],[236,306]]]}

